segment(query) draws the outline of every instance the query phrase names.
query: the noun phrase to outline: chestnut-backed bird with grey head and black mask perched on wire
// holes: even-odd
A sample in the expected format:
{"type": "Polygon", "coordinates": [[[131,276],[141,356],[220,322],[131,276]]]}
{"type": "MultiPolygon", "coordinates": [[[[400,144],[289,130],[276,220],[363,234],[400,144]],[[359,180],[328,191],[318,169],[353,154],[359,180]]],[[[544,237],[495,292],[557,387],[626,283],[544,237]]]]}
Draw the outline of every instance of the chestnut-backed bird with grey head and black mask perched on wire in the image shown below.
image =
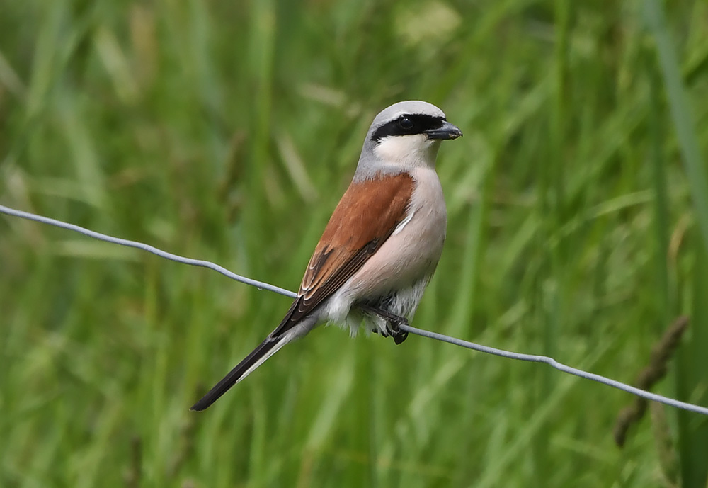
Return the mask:
{"type": "Polygon", "coordinates": [[[401,344],[447,231],[435,160],[462,136],[440,108],[401,101],[374,118],[353,179],[332,213],[278,327],[196,402],[201,412],[265,360],[319,324],[360,327],[401,344]]]}

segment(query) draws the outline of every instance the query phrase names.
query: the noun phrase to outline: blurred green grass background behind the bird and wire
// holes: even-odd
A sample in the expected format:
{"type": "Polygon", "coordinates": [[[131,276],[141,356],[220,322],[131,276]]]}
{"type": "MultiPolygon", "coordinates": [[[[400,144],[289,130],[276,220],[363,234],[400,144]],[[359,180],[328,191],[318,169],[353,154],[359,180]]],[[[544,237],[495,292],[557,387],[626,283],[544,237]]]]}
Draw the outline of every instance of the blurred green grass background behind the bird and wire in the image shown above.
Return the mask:
{"type": "MultiPolygon", "coordinates": [[[[0,4],[0,203],[295,289],[378,110],[464,138],[417,327],[708,404],[701,0],[0,4]]],[[[708,420],[330,327],[188,407],[289,300],[0,218],[2,487],[706,487],[708,420]]]]}

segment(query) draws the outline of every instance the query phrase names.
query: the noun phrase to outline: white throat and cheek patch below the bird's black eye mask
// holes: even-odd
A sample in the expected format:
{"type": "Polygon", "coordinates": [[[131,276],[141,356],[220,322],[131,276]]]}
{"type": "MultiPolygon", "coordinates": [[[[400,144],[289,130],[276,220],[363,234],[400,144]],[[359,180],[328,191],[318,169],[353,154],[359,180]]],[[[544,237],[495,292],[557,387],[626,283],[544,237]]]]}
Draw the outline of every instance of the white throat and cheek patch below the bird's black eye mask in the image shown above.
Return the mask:
{"type": "Polygon", "coordinates": [[[374,155],[385,164],[413,168],[435,168],[440,140],[430,140],[424,134],[384,137],[374,147],[374,155]]]}

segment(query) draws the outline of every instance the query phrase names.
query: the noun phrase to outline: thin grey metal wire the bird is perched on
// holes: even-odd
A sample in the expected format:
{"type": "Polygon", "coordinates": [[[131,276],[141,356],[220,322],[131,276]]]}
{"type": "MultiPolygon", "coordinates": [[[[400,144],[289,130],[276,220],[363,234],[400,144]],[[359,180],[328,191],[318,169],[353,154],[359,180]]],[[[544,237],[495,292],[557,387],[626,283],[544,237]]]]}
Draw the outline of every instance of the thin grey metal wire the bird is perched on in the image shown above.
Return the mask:
{"type": "MultiPolygon", "coordinates": [[[[278,286],[270,285],[268,283],[263,283],[262,281],[251,280],[251,278],[245,278],[244,276],[232,273],[226,268],[219,266],[218,264],[212,263],[210,261],[204,261],[202,259],[190,259],[183,256],[177,256],[176,254],[171,254],[161,249],[157,249],[154,246],[149,246],[148,244],[143,244],[142,242],[129,241],[127,239],[120,239],[118,237],[111,237],[99,232],[93,232],[89,229],[84,229],[84,227],[79,227],[78,225],[69,224],[67,222],[62,222],[61,220],[50,219],[49,217],[42,217],[41,215],[35,215],[30,212],[23,212],[22,210],[15,210],[13,208],[5,207],[0,205],[0,212],[6,215],[13,215],[15,217],[21,217],[23,219],[34,220],[35,222],[41,222],[42,224],[54,225],[55,227],[61,227],[62,229],[73,230],[79,232],[93,239],[98,239],[105,242],[111,242],[113,244],[120,244],[121,246],[135,247],[137,249],[142,249],[143,251],[148,251],[157,256],[161,256],[165,259],[170,259],[171,261],[177,261],[178,263],[190,264],[192,266],[201,266],[202,268],[210,268],[222,275],[232,278],[232,280],[239,281],[241,283],[246,283],[246,285],[255,286],[259,290],[268,290],[275,293],[280,293],[280,295],[285,295],[287,297],[297,297],[296,293],[290,290],[285,290],[285,288],[280,288],[278,286]]],[[[446,336],[444,334],[438,334],[436,332],[431,332],[423,329],[416,329],[416,327],[411,327],[409,325],[401,325],[401,329],[410,334],[416,334],[418,336],[428,337],[429,339],[436,339],[438,341],[447,342],[449,344],[454,344],[455,346],[461,346],[464,348],[472,349],[473,351],[479,351],[481,353],[493,354],[494,356],[501,356],[502,358],[515,359],[518,361],[530,361],[531,363],[545,363],[556,370],[563,371],[564,373],[569,373],[571,375],[579,376],[580,378],[585,378],[586,380],[593,380],[603,385],[611,386],[622,390],[627,393],[632,393],[638,397],[653,400],[654,402],[660,402],[670,407],[675,407],[678,409],[687,410],[689,412],[695,412],[697,414],[708,415],[708,407],[701,407],[700,405],[695,405],[687,402],[680,402],[679,400],[664,397],[663,395],[657,395],[656,393],[647,392],[646,390],[641,390],[640,388],[632,387],[626,385],[617,380],[611,380],[610,378],[605,378],[602,375],[597,375],[595,373],[588,373],[587,371],[579,370],[577,368],[572,368],[571,366],[559,363],[554,358],[549,358],[548,356],[536,356],[534,354],[523,354],[523,353],[513,353],[510,351],[503,351],[503,349],[497,349],[489,346],[481,346],[480,344],[474,344],[474,342],[463,341],[462,339],[456,339],[455,337],[446,336]]]]}

